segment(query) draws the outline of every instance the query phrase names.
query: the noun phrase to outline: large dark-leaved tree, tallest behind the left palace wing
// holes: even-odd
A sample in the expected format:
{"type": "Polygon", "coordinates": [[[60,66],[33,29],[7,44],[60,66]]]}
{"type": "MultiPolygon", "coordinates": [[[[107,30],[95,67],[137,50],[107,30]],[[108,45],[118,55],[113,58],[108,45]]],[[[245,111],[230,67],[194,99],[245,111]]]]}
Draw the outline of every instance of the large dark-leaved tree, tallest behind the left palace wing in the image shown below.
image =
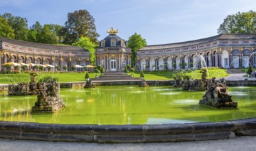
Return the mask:
{"type": "Polygon", "coordinates": [[[65,35],[64,43],[75,43],[78,38],[88,37],[93,43],[97,43],[99,34],[96,32],[94,18],[87,10],[76,10],[67,14],[65,27],[61,30],[65,35]]]}

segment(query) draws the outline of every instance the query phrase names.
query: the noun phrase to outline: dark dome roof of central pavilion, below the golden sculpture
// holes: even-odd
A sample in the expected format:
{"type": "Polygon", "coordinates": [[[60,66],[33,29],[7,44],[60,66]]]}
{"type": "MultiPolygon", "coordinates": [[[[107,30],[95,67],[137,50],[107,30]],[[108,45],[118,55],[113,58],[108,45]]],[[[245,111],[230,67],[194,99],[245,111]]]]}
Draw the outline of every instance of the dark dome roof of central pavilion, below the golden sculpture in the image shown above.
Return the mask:
{"type": "MultiPolygon", "coordinates": [[[[105,44],[104,47],[126,47],[125,44],[125,40],[122,40],[122,38],[120,38],[120,36],[117,36],[116,34],[109,34],[109,36],[106,36],[106,38],[104,38],[105,44]],[[111,46],[111,41],[115,41],[116,45],[115,46],[111,46]],[[122,42],[124,43],[122,45],[122,42]]],[[[103,40],[100,41],[100,46],[101,43],[103,43],[103,40]]]]}

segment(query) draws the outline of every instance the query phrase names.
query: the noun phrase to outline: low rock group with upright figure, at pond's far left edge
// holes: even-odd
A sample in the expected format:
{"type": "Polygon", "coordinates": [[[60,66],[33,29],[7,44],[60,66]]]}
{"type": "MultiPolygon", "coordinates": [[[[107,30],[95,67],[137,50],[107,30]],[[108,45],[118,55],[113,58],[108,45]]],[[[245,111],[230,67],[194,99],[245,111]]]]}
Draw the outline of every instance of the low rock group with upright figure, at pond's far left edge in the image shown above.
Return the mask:
{"type": "Polygon", "coordinates": [[[36,73],[30,73],[30,83],[21,82],[9,84],[8,95],[34,95],[36,94],[36,73]]]}

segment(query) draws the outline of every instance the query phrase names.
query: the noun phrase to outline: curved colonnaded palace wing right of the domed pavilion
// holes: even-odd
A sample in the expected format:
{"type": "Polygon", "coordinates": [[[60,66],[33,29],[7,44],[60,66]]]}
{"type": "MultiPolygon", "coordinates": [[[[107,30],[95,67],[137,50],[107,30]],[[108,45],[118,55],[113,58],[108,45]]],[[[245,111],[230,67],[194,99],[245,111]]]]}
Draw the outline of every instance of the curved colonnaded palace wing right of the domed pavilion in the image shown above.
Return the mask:
{"type": "Polygon", "coordinates": [[[137,52],[141,70],[198,69],[200,67],[256,67],[256,36],[220,34],[167,45],[149,45],[137,52]]]}

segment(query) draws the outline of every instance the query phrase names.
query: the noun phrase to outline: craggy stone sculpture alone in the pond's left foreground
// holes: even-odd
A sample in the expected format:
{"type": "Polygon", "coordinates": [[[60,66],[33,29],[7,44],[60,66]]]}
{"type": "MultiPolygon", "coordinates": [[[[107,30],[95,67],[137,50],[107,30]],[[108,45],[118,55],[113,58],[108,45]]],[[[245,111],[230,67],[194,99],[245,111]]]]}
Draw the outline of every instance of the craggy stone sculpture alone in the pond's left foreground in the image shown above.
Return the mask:
{"type": "Polygon", "coordinates": [[[37,101],[32,106],[32,112],[53,113],[65,107],[63,100],[58,95],[59,84],[52,78],[36,84],[37,101]]]}

